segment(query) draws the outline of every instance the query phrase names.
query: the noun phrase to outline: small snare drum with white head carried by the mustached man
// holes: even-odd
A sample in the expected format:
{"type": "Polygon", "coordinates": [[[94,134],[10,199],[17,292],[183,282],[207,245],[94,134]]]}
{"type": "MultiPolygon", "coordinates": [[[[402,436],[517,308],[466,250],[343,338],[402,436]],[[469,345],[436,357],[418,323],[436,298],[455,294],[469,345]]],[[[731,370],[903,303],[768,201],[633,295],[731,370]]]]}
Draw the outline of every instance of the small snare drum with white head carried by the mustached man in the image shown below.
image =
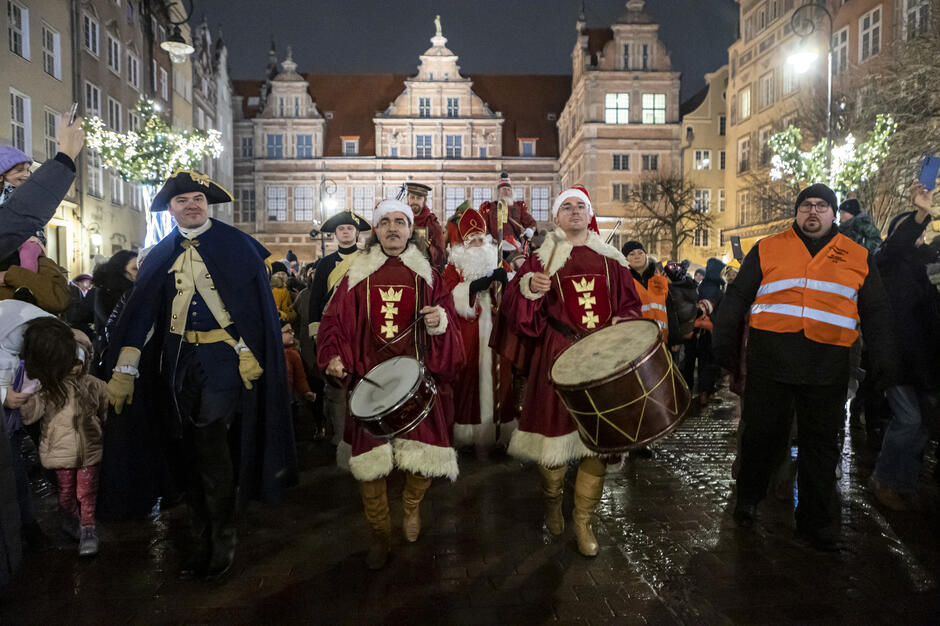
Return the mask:
{"type": "Polygon", "coordinates": [[[436,398],[437,385],[424,364],[398,356],[379,363],[356,383],[349,412],[373,436],[391,439],[416,428],[436,398]]]}

